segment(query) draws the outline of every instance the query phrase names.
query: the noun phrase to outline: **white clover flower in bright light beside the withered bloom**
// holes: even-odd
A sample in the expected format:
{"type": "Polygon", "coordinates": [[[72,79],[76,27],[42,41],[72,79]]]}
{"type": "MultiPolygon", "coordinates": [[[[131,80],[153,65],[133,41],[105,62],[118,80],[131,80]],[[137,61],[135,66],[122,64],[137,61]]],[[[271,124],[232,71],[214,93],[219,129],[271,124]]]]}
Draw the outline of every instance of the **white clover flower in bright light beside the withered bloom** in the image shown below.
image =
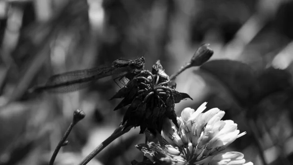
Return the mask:
{"type": "Polygon", "coordinates": [[[185,108],[177,117],[180,128],[171,122],[163,125],[162,136],[146,131],[147,144],[136,147],[153,163],[164,165],[253,165],[245,164],[240,152],[224,152],[237,138],[245,135],[232,120],[221,120],[218,108],[203,113],[207,103],[196,111],[185,108]]]}

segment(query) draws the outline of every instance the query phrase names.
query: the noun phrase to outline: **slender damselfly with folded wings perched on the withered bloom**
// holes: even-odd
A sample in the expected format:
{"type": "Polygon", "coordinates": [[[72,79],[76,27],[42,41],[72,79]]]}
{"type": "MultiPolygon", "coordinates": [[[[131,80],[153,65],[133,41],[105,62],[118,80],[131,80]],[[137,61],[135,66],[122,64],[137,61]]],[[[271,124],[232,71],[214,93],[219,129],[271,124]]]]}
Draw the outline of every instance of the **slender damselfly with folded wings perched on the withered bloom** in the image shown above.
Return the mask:
{"type": "Polygon", "coordinates": [[[45,85],[37,86],[29,92],[57,92],[67,93],[86,88],[90,83],[111,75],[120,75],[124,78],[128,73],[142,71],[145,67],[145,58],[139,57],[135,60],[117,59],[112,66],[99,66],[91,69],[69,71],[51,76],[45,85]]]}

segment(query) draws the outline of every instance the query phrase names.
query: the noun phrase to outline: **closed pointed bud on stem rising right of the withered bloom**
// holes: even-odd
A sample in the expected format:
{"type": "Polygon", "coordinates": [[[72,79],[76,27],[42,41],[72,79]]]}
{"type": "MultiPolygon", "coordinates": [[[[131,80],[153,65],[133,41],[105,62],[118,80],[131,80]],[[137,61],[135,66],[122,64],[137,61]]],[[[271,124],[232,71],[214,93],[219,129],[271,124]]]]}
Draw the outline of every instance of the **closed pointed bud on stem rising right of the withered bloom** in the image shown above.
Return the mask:
{"type": "Polygon", "coordinates": [[[209,44],[203,44],[200,46],[190,60],[190,67],[199,67],[209,60],[212,56],[213,50],[209,47],[209,44]]]}

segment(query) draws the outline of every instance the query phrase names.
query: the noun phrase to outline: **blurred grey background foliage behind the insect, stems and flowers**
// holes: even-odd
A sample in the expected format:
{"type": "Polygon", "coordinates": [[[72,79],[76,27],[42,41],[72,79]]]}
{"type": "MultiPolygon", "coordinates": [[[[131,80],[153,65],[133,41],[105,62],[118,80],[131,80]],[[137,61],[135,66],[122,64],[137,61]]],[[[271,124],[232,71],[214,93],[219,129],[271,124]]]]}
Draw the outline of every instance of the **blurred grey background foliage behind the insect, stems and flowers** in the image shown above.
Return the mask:
{"type": "MultiPolygon", "coordinates": [[[[226,111],[247,135],[230,150],[254,165],[293,164],[292,0],[1,0],[0,165],[45,165],[75,109],[73,129],[56,165],[78,164],[120,124],[119,90],[108,77],[68,94],[29,94],[53,74],[108,65],[115,59],[160,59],[171,75],[196,48],[212,58],[177,79],[192,100],[175,106],[226,111]]],[[[133,129],[90,165],[130,165],[143,156],[133,129]]]]}

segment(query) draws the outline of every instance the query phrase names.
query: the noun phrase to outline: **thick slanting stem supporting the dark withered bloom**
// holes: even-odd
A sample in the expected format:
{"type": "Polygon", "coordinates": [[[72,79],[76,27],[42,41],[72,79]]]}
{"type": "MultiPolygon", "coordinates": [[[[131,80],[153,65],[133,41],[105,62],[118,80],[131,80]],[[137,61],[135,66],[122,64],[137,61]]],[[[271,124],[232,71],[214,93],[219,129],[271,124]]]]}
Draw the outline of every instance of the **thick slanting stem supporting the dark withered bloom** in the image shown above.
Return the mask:
{"type": "Polygon", "coordinates": [[[120,136],[122,136],[123,134],[125,134],[126,132],[128,132],[130,129],[132,128],[132,126],[129,126],[127,128],[124,129],[124,125],[121,125],[120,127],[118,127],[113,134],[108,137],[105,141],[103,141],[99,146],[97,146],[90,154],[88,154],[84,160],[79,163],[78,165],[86,165],[90,160],[92,160],[96,155],[98,155],[98,153],[100,153],[107,145],[109,145],[112,141],[114,141],[115,139],[119,138],[120,136]]]}

